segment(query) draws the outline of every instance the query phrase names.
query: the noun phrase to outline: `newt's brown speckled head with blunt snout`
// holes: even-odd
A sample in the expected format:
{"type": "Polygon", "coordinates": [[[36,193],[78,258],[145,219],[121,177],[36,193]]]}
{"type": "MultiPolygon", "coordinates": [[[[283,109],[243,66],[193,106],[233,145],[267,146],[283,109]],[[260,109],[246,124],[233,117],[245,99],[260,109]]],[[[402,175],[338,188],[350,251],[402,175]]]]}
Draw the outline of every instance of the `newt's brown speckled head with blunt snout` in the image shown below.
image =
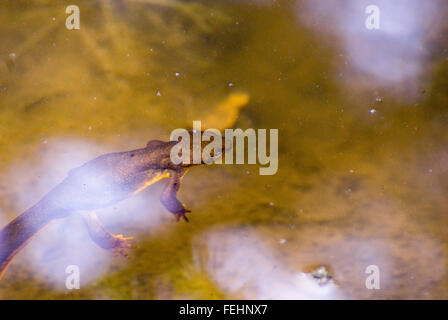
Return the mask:
{"type": "Polygon", "coordinates": [[[171,161],[175,164],[190,167],[201,164],[212,164],[232,148],[219,131],[188,131],[179,135],[177,141],[172,141],[170,150],[171,161]]]}

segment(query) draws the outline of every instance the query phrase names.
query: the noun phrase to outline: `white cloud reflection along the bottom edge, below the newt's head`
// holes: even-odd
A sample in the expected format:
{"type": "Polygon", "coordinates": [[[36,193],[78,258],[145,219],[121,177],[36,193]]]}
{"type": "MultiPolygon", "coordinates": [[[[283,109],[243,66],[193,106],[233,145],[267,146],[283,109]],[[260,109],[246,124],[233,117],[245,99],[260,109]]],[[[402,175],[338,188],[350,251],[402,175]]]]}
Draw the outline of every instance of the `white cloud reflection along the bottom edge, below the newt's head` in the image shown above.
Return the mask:
{"type": "Polygon", "coordinates": [[[287,266],[255,232],[217,230],[199,237],[197,244],[203,250],[195,252],[196,263],[228,294],[245,299],[343,298],[334,283],[319,285],[287,266]]]}

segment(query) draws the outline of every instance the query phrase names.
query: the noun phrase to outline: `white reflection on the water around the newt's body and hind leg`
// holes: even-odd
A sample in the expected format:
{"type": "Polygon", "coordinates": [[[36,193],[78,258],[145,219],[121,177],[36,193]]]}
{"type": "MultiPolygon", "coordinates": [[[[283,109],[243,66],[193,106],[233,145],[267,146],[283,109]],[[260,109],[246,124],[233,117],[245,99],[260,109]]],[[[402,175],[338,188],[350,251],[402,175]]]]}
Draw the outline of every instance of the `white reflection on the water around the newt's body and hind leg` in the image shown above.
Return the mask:
{"type": "MultiPolygon", "coordinates": [[[[8,168],[7,180],[14,181],[8,186],[8,192],[15,199],[15,216],[34,205],[61,182],[70,169],[110,151],[79,140],[45,141],[44,151],[39,154],[38,160],[22,159],[21,163],[8,168]]],[[[165,220],[167,214],[159,205],[158,195],[156,187],[155,192],[142,192],[97,213],[108,231],[136,236],[138,232],[151,230],[165,220]]],[[[5,218],[2,217],[0,227],[12,219],[5,218]]],[[[80,268],[82,286],[108,271],[112,262],[126,261],[122,257],[113,258],[109,251],[98,247],[90,239],[82,218],[74,213],[54,221],[35,236],[14,258],[5,278],[13,275],[14,265],[26,263],[34,276],[45,278],[56,288],[65,290],[65,269],[68,265],[80,268]]]]}

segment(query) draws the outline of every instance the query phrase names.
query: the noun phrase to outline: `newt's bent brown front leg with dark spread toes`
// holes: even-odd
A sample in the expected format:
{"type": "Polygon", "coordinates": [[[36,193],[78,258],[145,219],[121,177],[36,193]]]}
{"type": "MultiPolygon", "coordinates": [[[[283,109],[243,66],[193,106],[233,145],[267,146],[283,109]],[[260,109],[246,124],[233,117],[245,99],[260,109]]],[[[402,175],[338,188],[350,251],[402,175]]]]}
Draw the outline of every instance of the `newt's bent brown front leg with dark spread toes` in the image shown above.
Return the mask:
{"type": "Polygon", "coordinates": [[[170,180],[165,186],[165,189],[163,189],[160,201],[169,212],[176,216],[177,221],[183,218],[188,222],[188,218],[185,214],[191,212],[191,210],[186,209],[185,206],[177,199],[177,192],[179,191],[182,177],[185,173],[186,170],[184,169],[174,170],[171,172],[170,180]]]}

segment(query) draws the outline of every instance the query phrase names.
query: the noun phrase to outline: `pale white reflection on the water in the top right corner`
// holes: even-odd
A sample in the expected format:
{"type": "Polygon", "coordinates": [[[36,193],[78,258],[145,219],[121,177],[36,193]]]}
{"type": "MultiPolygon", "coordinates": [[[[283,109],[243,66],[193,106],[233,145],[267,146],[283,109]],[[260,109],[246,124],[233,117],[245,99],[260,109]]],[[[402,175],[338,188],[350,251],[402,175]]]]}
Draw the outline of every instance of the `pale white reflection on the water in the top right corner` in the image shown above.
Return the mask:
{"type": "Polygon", "coordinates": [[[314,30],[342,40],[348,65],[391,83],[418,76],[428,51],[424,36],[429,28],[440,28],[434,22],[441,18],[441,5],[438,0],[306,0],[298,14],[314,30]],[[365,26],[369,5],[380,9],[379,30],[365,26]]]}

